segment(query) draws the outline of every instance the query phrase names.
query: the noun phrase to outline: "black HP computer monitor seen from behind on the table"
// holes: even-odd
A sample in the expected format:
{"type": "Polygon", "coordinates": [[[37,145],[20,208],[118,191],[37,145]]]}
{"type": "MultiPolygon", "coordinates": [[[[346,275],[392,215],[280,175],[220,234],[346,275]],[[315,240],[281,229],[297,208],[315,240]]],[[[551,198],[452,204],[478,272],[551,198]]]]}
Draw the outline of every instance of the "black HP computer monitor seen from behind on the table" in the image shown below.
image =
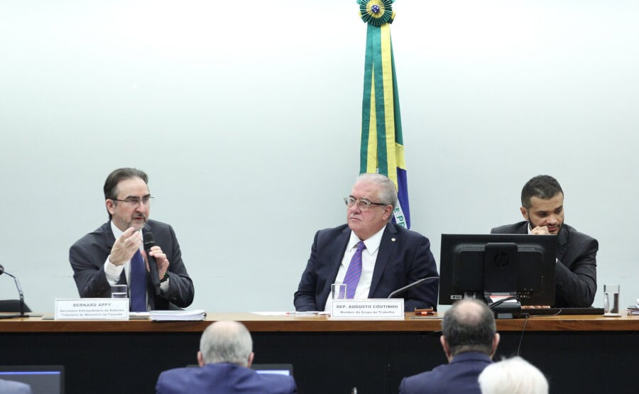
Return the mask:
{"type": "Polygon", "coordinates": [[[441,251],[441,305],[508,296],[520,305],[555,303],[555,235],[442,234],[441,251]]]}

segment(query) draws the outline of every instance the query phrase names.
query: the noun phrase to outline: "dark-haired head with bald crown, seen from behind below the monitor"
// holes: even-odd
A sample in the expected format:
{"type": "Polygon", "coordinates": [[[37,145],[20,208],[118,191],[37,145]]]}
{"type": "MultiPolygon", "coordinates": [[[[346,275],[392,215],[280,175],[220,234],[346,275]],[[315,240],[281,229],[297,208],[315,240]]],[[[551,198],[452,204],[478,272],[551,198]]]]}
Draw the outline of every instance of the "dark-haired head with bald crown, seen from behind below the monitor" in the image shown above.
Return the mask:
{"type": "Polygon", "coordinates": [[[442,319],[439,339],[449,361],[457,354],[476,351],[493,356],[499,344],[495,317],[481,301],[466,299],[454,303],[442,319]]]}

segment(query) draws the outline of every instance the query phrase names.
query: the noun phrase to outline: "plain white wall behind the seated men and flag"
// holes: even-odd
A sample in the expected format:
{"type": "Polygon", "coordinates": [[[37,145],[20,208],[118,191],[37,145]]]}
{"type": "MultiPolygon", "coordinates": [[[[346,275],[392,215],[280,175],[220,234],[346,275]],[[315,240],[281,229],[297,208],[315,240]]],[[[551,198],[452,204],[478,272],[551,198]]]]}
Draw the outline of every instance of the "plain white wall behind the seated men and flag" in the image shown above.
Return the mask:
{"type": "MultiPolygon", "coordinates": [[[[639,3],[398,0],[391,28],[413,229],[520,219],[557,177],[599,239],[599,288],[639,297],[639,3]]],[[[75,297],[68,248],[146,170],[192,307],[291,310],[359,171],[366,26],[345,1],[2,1],[0,263],[33,310],[75,297]]],[[[15,297],[0,277],[0,299],[15,297]]],[[[596,306],[601,306],[601,290],[596,306]]]]}

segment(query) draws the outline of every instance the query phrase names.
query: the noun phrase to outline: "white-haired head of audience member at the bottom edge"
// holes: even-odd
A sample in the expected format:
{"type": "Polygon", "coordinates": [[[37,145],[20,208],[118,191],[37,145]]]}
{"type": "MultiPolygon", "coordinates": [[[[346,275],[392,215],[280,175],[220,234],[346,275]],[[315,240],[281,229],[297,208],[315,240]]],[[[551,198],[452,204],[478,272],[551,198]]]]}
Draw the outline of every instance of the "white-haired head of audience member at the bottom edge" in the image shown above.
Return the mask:
{"type": "Polygon", "coordinates": [[[481,394],[548,394],[548,381],[521,357],[492,363],[479,375],[481,394]]]}

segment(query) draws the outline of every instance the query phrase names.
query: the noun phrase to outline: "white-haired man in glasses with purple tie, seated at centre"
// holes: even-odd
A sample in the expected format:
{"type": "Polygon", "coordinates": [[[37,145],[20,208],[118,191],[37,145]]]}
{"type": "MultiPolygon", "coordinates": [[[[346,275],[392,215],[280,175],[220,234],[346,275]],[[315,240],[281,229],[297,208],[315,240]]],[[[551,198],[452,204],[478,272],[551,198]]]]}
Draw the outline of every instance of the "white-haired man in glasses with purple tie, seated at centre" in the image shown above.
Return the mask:
{"type": "MultiPolygon", "coordinates": [[[[329,310],[332,283],[346,283],[347,298],[386,298],[422,278],[437,278],[430,241],[391,223],[397,204],[393,181],[380,174],[362,174],[344,202],[347,223],[315,234],[295,292],[297,311],[329,310]]],[[[408,290],[404,298],[407,312],[436,308],[437,280],[408,290]]]]}

